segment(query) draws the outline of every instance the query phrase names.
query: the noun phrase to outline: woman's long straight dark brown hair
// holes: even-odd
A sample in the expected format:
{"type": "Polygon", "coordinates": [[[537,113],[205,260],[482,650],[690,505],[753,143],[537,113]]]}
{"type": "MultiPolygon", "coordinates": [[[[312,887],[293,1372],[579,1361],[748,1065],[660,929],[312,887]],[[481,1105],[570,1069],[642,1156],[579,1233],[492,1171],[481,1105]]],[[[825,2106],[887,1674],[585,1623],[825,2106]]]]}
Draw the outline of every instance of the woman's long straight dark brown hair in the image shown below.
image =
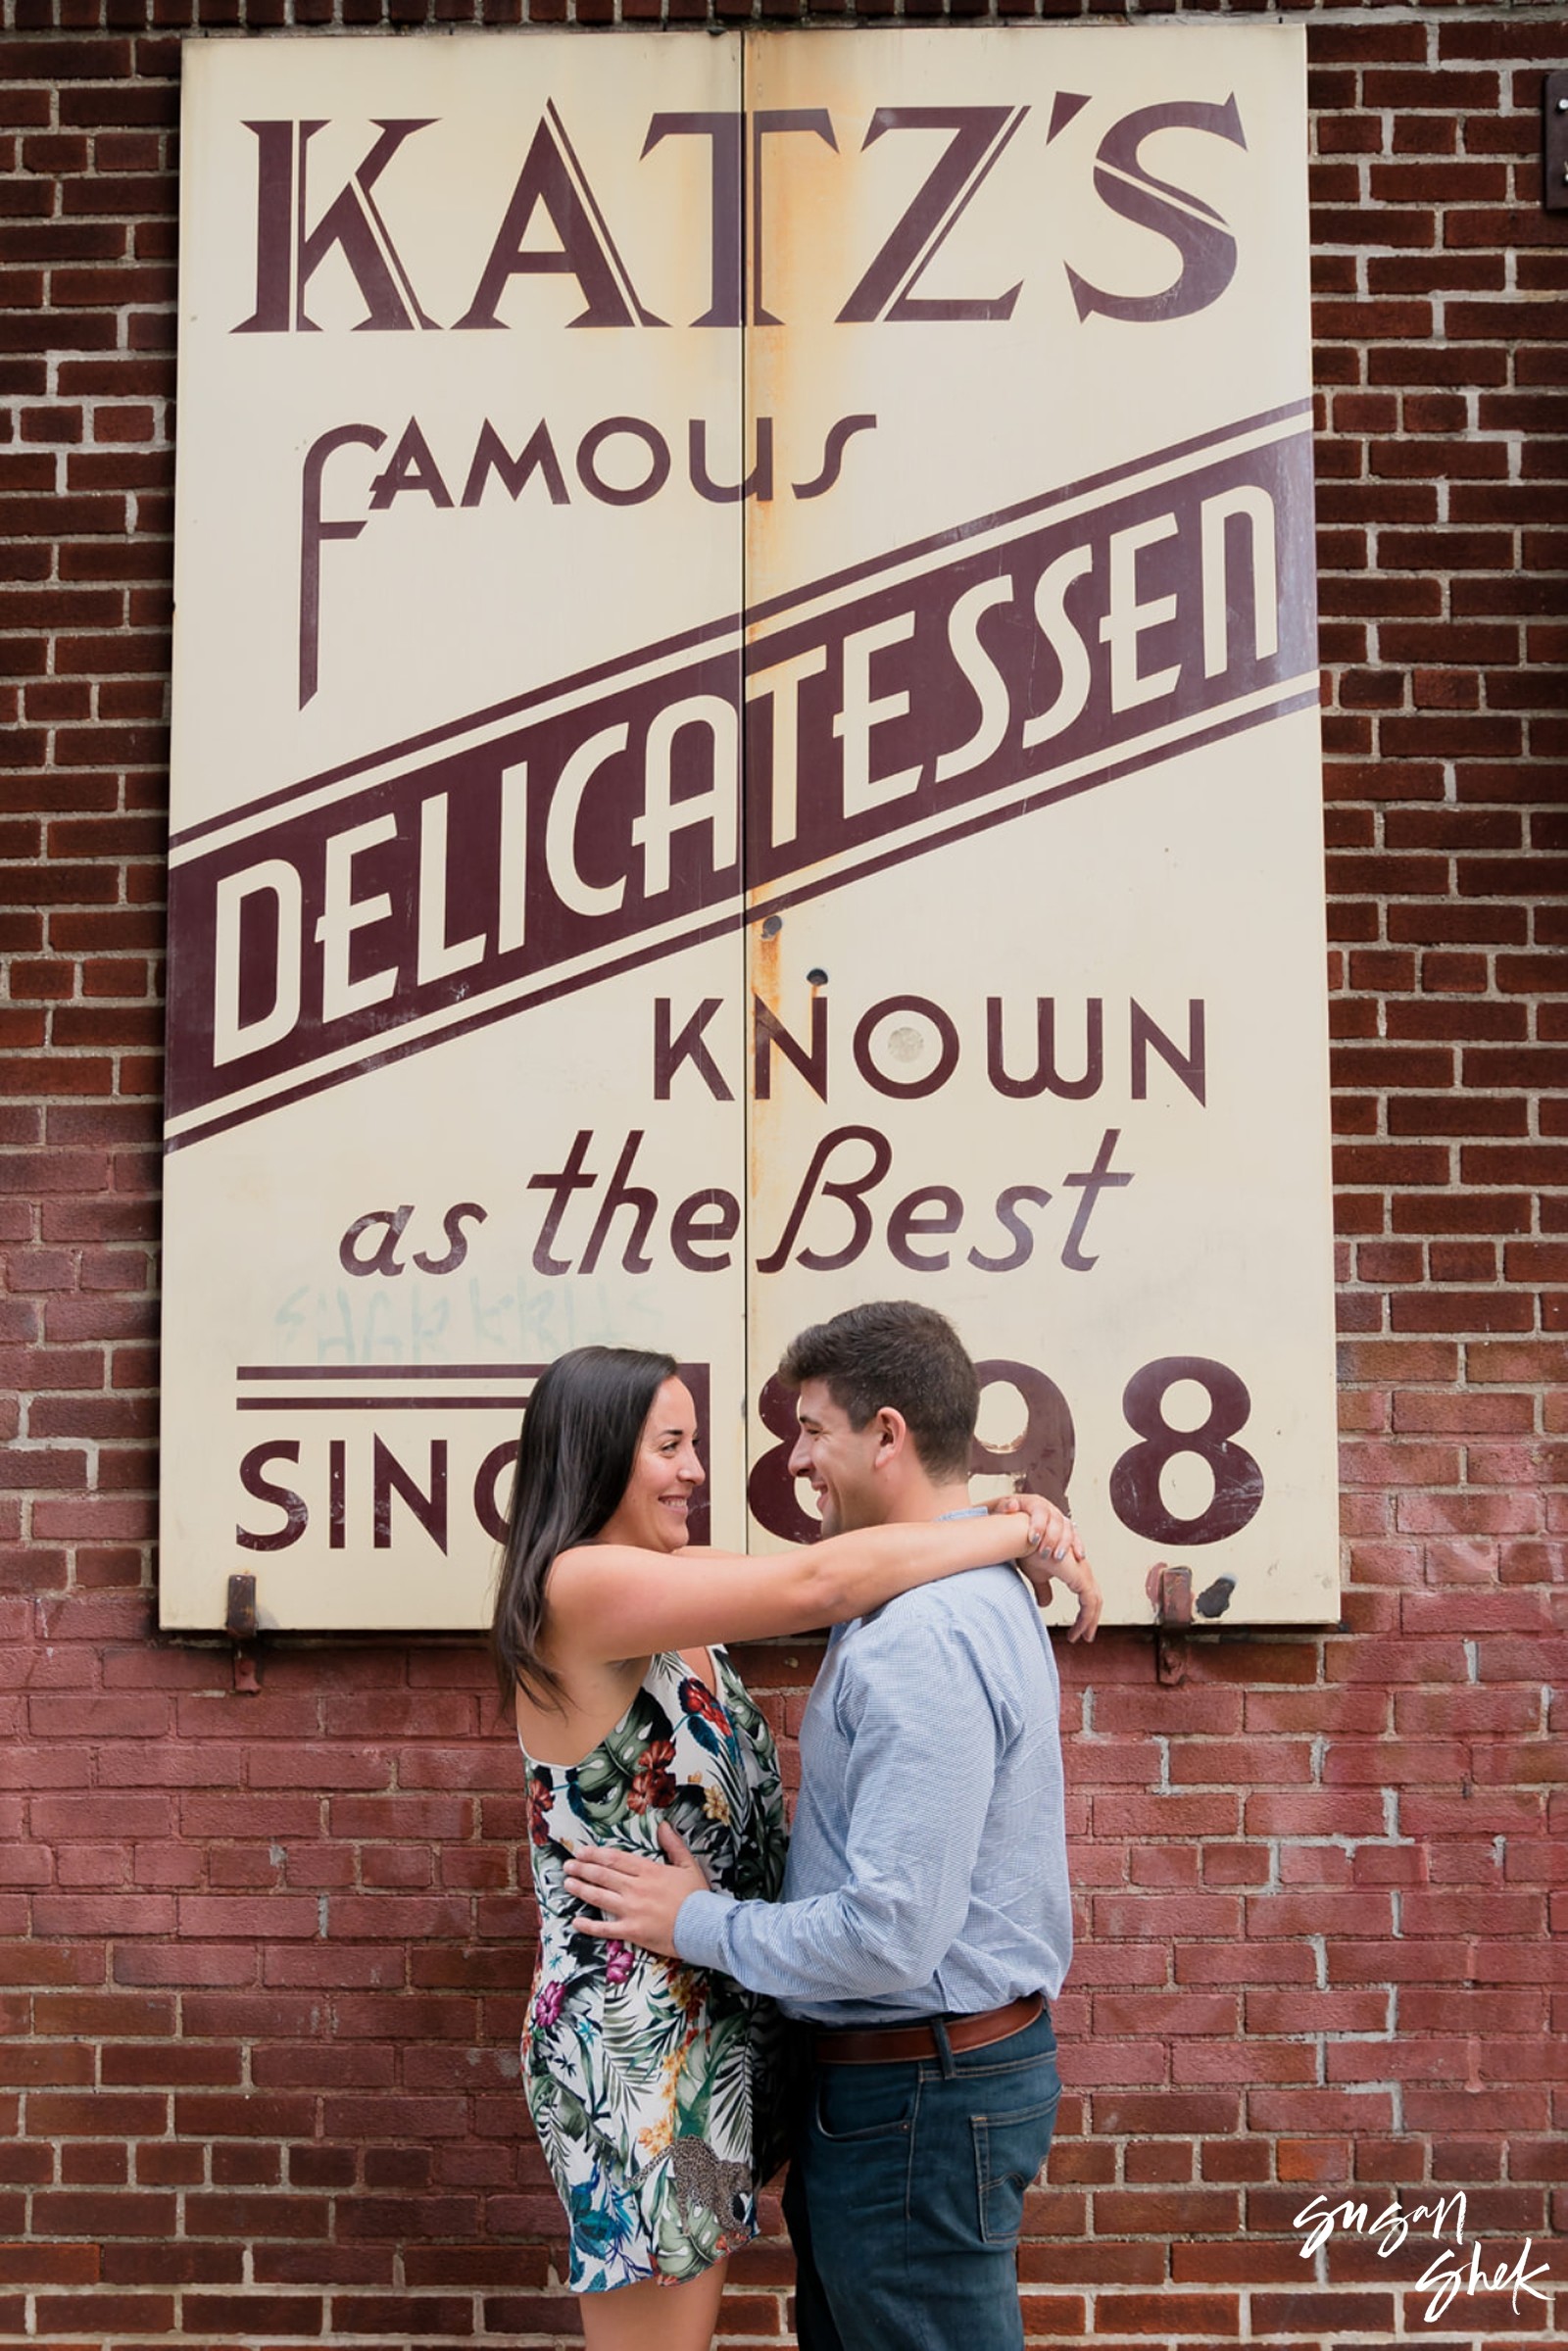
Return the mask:
{"type": "Polygon", "coordinates": [[[529,1396],[489,1629],[503,1707],[517,1686],[543,1704],[559,1693],[559,1674],[538,1655],[545,1575],[562,1552],[614,1519],[654,1396],[672,1378],[670,1354],[574,1347],[529,1396]]]}

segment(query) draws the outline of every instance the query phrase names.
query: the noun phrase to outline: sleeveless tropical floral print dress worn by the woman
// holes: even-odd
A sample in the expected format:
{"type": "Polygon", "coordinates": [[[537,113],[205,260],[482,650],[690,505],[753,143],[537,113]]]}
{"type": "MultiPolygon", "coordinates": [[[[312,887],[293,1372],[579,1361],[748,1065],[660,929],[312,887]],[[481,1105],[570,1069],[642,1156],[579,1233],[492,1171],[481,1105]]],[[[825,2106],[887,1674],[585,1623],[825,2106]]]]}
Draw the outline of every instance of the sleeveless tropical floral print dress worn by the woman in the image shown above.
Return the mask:
{"type": "Polygon", "coordinates": [[[529,1768],[538,1970],[522,2078],[571,2222],[576,2295],[696,2278],[757,2233],[776,2170],[783,2027],[726,1975],[578,1935],[562,1883],[576,1846],[658,1857],[658,1822],[738,1900],[783,1883],[778,1756],[722,1648],[717,1697],[675,1650],[649,1660],[632,1704],[581,1763],[529,1768]]]}

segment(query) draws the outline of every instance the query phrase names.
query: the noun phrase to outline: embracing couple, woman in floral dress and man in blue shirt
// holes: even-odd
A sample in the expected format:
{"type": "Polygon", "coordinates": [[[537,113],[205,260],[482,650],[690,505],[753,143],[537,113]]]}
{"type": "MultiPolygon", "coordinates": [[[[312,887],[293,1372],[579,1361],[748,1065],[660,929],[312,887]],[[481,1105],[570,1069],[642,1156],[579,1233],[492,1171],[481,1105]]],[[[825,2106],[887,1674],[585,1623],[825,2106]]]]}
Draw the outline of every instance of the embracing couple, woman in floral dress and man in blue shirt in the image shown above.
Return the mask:
{"type": "Polygon", "coordinates": [[[670,1357],[576,1349],[524,1420],[494,1648],[569,2283],[590,2351],[705,2351],[788,2154],[804,2351],[1011,2351],[1072,1951],[1037,1599],[1067,1585],[1093,1639],[1100,1594],[1051,1502],[971,1509],[978,1382],[940,1314],[851,1307],[780,1380],[823,1540],[764,1559],[686,1547],[703,1467],[670,1357]],[[773,1742],[722,1643],[820,1625],[785,1864],[773,1742]]]}

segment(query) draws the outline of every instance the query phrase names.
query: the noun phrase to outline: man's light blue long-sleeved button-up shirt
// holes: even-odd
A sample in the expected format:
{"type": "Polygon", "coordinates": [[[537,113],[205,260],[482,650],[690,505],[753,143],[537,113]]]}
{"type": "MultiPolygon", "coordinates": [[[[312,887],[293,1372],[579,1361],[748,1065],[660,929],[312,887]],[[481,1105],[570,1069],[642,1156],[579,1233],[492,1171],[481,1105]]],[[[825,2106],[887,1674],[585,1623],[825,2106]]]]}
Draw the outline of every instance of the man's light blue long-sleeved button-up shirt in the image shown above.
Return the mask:
{"type": "Polygon", "coordinates": [[[1056,1998],[1072,1958],[1060,1693],[1016,1568],[839,1625],[799,1751],[783,1902],[686,1895],[684,1961],[823,2024],[1056,1998]]]}

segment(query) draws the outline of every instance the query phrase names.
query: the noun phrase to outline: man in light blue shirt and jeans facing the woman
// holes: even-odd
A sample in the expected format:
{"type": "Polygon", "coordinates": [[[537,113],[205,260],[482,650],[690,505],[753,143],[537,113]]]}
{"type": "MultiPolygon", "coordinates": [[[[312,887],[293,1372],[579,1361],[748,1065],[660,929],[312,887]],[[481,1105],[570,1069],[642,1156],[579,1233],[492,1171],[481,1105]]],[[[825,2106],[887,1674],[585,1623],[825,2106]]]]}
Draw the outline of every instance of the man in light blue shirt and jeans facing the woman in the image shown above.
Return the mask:
{"type": "MultiPolygon", "coordinates": [[[[851,1307],[788,1347],[780,1380],[823,1533],[971,1507],[978,1382],[940,1314],[851,1307]]],[[[1056,1533],[1072,1639],[1093,1639],[1093,1570],[1056,1533]]],[[[567,1886],[599,1933],[806,2022],[785,2189],[802,2351],[1020,2351],[1016,2245],[1072,1956],[1058,1681],[1027,1580],[978,1568],[837,1627],[799,1744],[783,1902],[710,1893],[668,1829],[672,1867],[583,1853],[567,1886]]]]}

